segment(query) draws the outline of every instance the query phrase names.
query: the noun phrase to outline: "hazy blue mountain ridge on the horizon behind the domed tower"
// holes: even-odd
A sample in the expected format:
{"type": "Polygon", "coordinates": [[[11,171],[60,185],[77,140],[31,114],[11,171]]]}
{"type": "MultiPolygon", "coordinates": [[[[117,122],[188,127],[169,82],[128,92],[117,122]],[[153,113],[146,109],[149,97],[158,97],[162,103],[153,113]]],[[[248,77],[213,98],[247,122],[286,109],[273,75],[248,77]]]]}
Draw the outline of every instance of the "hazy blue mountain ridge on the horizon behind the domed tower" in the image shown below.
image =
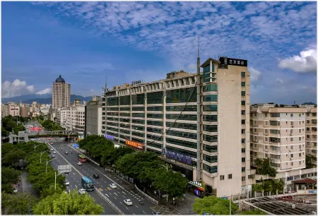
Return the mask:
{"type": "MultiPolygon", "coordinates": [[[[83,101],[90,101],[92,100],[92,96],[83,97],[81,95],[71,95],[71,102],[75,99],[80,99],[81,102],[83,101]]],[[[43,95],[21,95],[17,97],[8,97],[8,98],[2,98],[1,102],[2,104],[6,102],[23,102],[32,104],[32,102],[37,102],[38,104],[52,104],[52,95],[51,94],[45,94],[43,95]]]]}

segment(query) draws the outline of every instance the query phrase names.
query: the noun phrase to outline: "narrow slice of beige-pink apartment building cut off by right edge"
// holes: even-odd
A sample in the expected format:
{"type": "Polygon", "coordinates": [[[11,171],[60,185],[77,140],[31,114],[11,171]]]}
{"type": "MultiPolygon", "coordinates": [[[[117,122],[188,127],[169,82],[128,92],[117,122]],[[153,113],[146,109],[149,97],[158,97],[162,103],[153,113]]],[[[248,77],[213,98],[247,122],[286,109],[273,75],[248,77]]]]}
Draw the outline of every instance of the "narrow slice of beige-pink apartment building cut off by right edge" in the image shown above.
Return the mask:
{"type": "Polygon", "coordinates": [[[306,109],[306,154],[317,156],[317,107],[306,106],[306,109]]]}

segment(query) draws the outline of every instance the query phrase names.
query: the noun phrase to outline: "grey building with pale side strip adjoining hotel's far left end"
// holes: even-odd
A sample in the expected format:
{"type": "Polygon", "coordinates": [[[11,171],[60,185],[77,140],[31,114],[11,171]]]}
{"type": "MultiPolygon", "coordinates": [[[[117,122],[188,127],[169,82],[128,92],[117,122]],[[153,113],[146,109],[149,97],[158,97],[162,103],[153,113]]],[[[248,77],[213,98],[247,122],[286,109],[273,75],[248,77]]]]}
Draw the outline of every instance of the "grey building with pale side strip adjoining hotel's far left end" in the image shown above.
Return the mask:
{"type": "Polygon", "coordinates": [[[88,102],[85,113],[86,135],[102,135],[102,102],[88,102]]]}

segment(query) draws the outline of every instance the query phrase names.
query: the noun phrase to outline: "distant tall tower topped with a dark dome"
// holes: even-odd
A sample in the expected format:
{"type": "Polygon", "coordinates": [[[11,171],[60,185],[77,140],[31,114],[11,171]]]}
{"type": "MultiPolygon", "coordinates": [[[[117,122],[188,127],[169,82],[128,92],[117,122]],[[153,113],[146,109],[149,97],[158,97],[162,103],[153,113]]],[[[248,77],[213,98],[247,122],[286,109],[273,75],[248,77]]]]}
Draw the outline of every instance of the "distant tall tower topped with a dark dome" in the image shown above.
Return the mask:
{"type": "Polygon", "coordinates": [[[52,109],[69,107],[71,104],[71,84],[65,83],[61,75],[53,83],[52,109]]]}

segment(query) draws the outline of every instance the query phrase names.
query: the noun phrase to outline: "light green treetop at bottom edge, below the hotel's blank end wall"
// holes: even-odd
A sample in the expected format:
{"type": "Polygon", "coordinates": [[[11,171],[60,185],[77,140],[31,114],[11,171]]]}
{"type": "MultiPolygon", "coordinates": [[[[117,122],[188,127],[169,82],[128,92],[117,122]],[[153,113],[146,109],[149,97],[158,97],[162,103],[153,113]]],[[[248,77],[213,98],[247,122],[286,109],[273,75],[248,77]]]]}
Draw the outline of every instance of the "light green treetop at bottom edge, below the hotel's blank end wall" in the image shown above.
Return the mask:
{"type": "MultiPolygon", "coordinates": [[[[232,201],[231,201],[232,202],[232,201]]],[[[216,196],[205,196],[204,198],[196,198],[193,205],[193,210],[199,215],[204,212],[213,215],[230,215],[230,200],[218,198],[216,196]]],[[[238,210],[236,203],[231,203],[231,212],[238,210]]]]}

